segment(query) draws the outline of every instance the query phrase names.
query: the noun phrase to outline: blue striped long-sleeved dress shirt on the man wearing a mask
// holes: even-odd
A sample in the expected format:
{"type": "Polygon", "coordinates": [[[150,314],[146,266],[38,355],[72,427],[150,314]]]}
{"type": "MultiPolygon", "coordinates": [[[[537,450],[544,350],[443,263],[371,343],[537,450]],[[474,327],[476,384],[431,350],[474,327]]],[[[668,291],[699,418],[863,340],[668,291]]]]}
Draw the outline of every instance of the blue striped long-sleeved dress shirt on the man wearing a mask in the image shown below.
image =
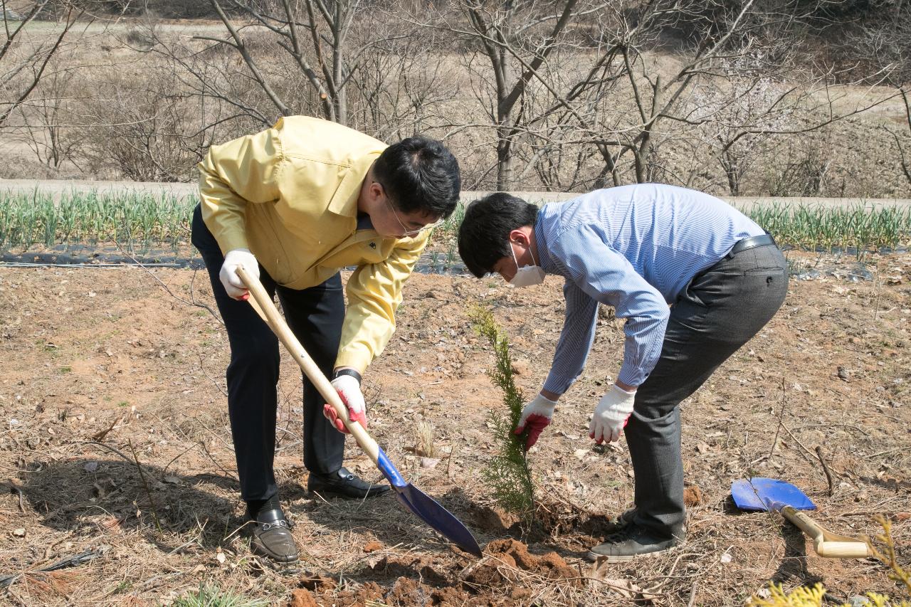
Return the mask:
{"type": "Polygon", "coordinates": [[[708,194],[643,183],[595,190],[541,208],[538,263],[566,278],[566,320],[544,389],[563,394],[589,357],[598,304],[626,319],[618,379],[639,386],[658,363],[673,304],[691,279],[765,233],[708,194]]]}

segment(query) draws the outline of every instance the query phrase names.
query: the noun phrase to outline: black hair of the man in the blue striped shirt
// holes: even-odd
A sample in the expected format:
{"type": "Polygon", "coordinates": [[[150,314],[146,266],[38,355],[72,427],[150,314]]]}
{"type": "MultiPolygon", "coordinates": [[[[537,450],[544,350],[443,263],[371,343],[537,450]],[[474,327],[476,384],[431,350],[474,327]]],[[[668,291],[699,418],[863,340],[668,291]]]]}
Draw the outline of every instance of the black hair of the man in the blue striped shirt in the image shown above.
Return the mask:
{"type": "Polygon", "coordinates": [[[472,202],[458,229],[458,254],[468,272],[482,278],[509,252],[509,232],[534,227],[538,208],[530,202],[497,191],[472,202]]]}

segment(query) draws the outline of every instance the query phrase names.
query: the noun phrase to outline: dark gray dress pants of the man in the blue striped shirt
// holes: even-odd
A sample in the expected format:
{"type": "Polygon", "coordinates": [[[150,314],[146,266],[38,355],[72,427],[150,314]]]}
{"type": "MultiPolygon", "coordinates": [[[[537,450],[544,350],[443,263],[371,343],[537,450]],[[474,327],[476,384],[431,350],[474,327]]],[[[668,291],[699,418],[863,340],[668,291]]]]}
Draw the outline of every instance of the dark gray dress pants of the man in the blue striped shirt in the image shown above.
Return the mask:
{"type": "Polygon", "coordinates": [[[778,247],[722,258],[696,275],[670,308],[658,364],[636,392],[624,432],[635,473],[635,523],[661,537],[685,534],[680,403],[769,322],[788,272],[778,247]]]}

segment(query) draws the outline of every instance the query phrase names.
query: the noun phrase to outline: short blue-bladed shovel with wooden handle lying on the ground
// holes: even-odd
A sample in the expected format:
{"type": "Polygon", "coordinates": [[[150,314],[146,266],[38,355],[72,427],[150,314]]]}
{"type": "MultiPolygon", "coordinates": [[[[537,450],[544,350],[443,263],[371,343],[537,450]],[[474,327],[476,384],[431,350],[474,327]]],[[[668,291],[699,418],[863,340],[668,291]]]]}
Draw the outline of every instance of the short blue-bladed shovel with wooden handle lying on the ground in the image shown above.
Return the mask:
{"type": "Polygon", "coordinates": [[[865,559],[873,556],[864,540],[824,529],[801,510],[816,506],[800,489],[777,478],[742,478],[731,485],[731,497],[742,510],[781,512],[813,540],[813,550],[826,559],[865,559]]]}

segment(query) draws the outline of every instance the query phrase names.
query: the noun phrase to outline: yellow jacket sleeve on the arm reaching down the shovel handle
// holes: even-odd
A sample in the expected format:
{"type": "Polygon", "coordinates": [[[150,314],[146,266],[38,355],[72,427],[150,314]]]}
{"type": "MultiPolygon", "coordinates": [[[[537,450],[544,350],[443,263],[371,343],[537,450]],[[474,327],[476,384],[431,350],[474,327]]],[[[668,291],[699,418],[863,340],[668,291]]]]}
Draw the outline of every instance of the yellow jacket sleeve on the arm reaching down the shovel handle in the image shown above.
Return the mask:
{"type": "Polygon", "coordinates": [[[359,373],[383,352],[395,331],[395,310],[402,303],[402,286],[424,251],[429,231],[403,239],[383,262],[359,266],[348,279],[348,310],[335,366],[359,373]]]}

